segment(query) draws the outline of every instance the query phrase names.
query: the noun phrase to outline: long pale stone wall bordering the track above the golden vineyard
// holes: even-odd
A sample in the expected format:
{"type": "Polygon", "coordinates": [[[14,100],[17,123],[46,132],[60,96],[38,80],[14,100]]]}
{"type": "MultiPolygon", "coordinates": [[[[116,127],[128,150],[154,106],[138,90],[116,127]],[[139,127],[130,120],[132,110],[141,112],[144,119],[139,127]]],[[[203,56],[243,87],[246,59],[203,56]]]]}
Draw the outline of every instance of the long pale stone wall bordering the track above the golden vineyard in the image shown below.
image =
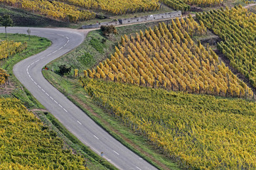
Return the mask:
{"type": "Polygon", "coordinates": [[[169,19],[169,18],[175,18],[175,17],[180,17],[180,16],[181,16],[181,11],[174,11],[174,12],[169,12],[169,13],[159,13],[159,14],[142,16],[142,17],[137,17],[137,18],[119,19],[118,21],[97,23],[97,24],[82,26],[81,28],[82,29],[100,28],[100,26],[111,26],[111,25],[118,26],[118,25],[122,25],[122,24],[142,23],[142,22],[146,22],[146,21],[169,19]]]}

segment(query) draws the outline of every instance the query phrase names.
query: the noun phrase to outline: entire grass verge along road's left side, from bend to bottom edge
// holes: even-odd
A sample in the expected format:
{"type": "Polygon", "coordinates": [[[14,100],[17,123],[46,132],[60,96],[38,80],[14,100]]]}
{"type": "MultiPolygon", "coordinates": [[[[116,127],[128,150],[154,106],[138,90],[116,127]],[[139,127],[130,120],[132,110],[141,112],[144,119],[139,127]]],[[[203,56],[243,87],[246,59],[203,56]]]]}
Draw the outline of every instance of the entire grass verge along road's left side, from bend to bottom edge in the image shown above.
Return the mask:
{"type": "MultiPolygon", "coordinates": [[[[7,29],[8,30],[8,29],[7,29]]],[[[10,84],[6,84],[4,88],[0,89],[0,97],[14,97],[22,101],[22,103],[30,111],[33,111],[41,121],[48,125],[51,129],[58,133],[58,136],[65,142],[66,147],[71,147],[73,152],[76,154],[82,154],[87,160],[87,167],[91,170],[98,169],[116,169],[112,164],[100,156],[92,152],[89,147],[82,145],[76,137],[73,136],[68,130],[65,130],[63,125],[58,122],[57,119],[53,117],[48,112],[41,111],[44,108],[41,103],[39,103],[36,98],[16,79],[13,73],[13,67],[16,63],[21,60],[26,59],[32,55],[36,55],[39,52],[46,50],[47,47],[51,45],[50,40],[46,38],[40,38],[37,36],[31,36],[28,41],[28,35],[23,34],[8,34],[5,38],[5,34],[0,33],[0,40],[14,40],[16,42],[28,42],[28,48],[23,52],[14,55],[14,57],[9,57],[6,60],[0,61],[0,67],[6,69],[8,74],[10,74],[9,81],[10,84]]]]}

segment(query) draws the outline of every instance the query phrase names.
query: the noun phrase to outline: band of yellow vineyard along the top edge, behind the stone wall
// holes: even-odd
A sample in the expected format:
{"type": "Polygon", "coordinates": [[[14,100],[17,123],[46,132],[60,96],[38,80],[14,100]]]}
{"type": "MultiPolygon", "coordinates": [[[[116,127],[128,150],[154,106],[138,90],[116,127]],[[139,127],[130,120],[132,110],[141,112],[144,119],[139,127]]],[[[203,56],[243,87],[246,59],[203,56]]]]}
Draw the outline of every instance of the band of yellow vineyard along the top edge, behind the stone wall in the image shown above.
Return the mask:
{"type": "Polygon", "coordinates": [[[126,13],[158,11],[161,4],[165,4],[175,10],[190,11],[191,5],[220,6],[223,0],[0,0],[0,2],[57,20],[77,23],[78,21],[88,21],[95,18],[99,10],[115,15],[123,15],[126,13]]]}

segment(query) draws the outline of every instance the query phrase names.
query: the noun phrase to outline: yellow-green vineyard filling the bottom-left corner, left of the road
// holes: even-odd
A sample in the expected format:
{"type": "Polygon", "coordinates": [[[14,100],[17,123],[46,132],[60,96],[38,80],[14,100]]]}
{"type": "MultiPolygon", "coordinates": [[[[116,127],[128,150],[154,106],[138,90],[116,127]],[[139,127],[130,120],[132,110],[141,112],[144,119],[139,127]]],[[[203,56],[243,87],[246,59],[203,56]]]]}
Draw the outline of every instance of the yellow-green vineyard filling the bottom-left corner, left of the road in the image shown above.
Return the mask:
{"type": "Polygon", "coordinates": [[[21,101],[0,98],[0,169],[86,169],[21,101]]]}

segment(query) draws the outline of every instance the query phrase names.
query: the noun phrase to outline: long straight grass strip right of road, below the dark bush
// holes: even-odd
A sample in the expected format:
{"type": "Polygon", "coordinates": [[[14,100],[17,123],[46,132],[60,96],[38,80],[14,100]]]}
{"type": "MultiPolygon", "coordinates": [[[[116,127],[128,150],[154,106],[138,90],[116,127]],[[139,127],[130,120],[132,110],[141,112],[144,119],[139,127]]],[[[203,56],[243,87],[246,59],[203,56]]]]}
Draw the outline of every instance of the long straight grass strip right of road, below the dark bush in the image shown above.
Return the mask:
{"type": "Polygon", "coordinates": [[[161,154],[161,152],[151,145],[150,142],[147,142],[144,137],[136,135],[110,113],[96,106],[90,97],[87,96],[85,90],[82,89],[78,83],[78,79],[63,78],[50,71],[44,71],[43,75],[56,89],[89,115],[92,120],[119,140],[123,145],[137,153],[139,157],[142,157],[158,169],[179,169],[175,162],[172,162],[171,159],[161,154]]]}

